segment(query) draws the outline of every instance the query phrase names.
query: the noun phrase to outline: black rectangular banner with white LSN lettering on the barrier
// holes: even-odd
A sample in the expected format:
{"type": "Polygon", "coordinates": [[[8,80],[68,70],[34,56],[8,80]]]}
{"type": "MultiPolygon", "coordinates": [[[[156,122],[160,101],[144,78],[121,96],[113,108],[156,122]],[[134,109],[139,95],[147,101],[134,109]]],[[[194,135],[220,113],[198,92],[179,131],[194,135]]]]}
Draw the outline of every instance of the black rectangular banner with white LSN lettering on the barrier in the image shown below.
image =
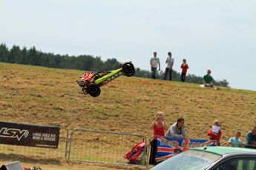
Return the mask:
{"type": "Polygon", "coordinates": [[[56,149],[59,145],[59,126],[0,122],[0,143],[56,149]]]}

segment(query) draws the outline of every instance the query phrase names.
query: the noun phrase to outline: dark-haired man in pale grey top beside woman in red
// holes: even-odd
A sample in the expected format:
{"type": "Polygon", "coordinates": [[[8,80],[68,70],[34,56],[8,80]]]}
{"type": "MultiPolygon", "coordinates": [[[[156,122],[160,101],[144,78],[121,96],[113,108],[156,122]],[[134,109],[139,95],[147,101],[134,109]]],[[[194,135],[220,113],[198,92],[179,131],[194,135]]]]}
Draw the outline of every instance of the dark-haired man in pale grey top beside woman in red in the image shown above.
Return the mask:
{"type": "Polygon", "coordinates": [[[184,129],[184,118],[178,118],[177,122],[170,126],[165,134],[165,137],[172,137],[177,139],[186,139],[187,135],[184,129]]]}

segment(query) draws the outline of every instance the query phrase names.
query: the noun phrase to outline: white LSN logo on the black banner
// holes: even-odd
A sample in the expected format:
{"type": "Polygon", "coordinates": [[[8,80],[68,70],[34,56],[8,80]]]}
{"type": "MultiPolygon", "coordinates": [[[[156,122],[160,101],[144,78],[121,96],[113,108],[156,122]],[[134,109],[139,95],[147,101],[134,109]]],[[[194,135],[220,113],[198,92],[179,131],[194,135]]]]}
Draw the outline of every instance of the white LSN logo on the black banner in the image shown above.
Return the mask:
{"type": "Polygon", "coordinates": [[[17,140],[21,140],[22,137],[26,138],[28,134],[29,132],[27,130],[21,129],[8,129],[6,127],[3,127],[0,130],[0,137],[16,138],[17,140]]]}

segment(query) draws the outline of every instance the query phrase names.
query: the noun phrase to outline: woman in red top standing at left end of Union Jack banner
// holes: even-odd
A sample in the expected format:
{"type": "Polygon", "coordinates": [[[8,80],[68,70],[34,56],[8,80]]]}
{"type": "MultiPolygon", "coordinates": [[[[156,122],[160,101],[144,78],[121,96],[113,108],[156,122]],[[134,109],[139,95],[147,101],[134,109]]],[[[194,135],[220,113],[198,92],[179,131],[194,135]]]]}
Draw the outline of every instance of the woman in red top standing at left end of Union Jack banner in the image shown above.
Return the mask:
{"type": "Polygon", "coordinates": [[[154,121],[151,123],[151,129],[154,132],[154,136],[151,141],[151,154],[149,159],[149,164],[156,165],[156,154],[157,154],[157,136],[163,137],[165,135],[165,130],[168,129],[167,124],[163,120],[163,112],[157,112],[154,121]]]}

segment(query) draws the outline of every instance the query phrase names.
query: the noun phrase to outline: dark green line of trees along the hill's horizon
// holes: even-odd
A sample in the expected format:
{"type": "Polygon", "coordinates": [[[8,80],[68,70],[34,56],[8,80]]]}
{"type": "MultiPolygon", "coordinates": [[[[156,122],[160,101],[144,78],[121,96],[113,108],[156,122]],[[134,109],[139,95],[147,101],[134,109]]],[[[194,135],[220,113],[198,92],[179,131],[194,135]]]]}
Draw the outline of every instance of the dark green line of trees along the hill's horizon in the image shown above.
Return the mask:
{"type": "MultiPolygon", "coordinates": [[[[61,69],[80,69],[80,70],[112,70],[119,67],[119,61],[116,58],[109,58],[102,61],[102,58],[92,55],[59,55],[52,52],[42,52],[36,50],[36,47],[27,49],[13,45],[9,50],[6,44],[0,45],[0,62],[13,64],[29,64],[34,66],[53,67],[61,69]]],[[[173,70],[172,80],[180,81],[180,72],[173,70]]],[[[136,68],[135,76],[141,78],[150,78],[151,72],[145,69],[136,68]]],[[[163,72],[157,72],[157,79],[163,79],[163,72]]],[[[186,82],[194,84],[203,84],[203,78],[197,75],[188,74],[186,82]]],[[[229,86],[229,82],[214,81],[218,86],[229,86]]]]}

